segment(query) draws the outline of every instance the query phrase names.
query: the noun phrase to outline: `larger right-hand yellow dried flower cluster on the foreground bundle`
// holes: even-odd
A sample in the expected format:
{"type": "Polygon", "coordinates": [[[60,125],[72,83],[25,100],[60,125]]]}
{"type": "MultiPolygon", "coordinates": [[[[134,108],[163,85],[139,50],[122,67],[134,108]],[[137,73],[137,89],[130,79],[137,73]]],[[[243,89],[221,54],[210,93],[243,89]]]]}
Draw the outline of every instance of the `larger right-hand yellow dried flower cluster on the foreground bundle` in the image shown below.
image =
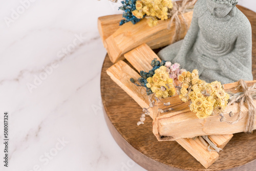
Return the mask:
{"type": "Polygon", "coordinates": [[[186,102],[191,99],[190,110],[202,119],[210,116],[214,110],[221,113],[225,110],[229,95],[223,90],[219,81],[206,83],[199,79],[198,70],[180,75],[182,82],[179,97],[186,102]]]}

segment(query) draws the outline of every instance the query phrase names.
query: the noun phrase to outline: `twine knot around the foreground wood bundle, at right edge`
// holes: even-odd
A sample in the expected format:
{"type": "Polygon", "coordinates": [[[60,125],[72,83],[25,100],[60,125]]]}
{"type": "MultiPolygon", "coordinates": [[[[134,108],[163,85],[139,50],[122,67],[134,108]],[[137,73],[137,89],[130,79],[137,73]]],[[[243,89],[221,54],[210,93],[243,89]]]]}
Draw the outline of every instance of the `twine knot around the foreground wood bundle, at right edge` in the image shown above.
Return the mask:
{"type": "Polygon", "coordinates": [[[242,113],[241,109],[246,104],[247,109],[248,109],[248,112],[247,112],[248,120],[247,120],[244,132],[252,133],[253,126],[254,126],[254,119],[256,116],[256,108],[255,108],[255,105],[253,102],[253,100],[255,99],[255,94],[256,94],[256,89],[255,89],[256,83],[254,83],[253,86],[251,86],[251,87],[247,87],[246,82],[244,80],[240,79],[239,84],[240,84],[240,87],[243,92],[239,93],[239,94],[231,94],[231,101],[228,103],[228,106],[232,105],[234,103],[239,103],[238,118],[235,121],[228,122],[228,123],[235,124],[239,120],[242,119],[243,113],[242,113]]]}

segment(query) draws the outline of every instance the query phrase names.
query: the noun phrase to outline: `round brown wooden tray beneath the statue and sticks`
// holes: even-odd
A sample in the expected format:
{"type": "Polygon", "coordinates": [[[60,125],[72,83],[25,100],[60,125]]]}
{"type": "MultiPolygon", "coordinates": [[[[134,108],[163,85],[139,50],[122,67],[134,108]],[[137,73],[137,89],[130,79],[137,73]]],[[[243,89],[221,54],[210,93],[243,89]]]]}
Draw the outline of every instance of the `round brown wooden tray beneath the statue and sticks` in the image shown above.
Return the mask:
{"type": "MultiPolygon", "coordinates": [[[[253,32],[253,76],[256,78],[256,13],[238,8],[248,17],[253,32]]],[[[152,119],[137,126],[141,107],[106,74],[113,63],[106,55],[101,71],[101,96],[104,116],[111,134],[123,151],[147,170],[256,170],[256,132],[234,134],[220,152],[219,160],[205,169],[176,141],[157,141],[152,119]]]]}

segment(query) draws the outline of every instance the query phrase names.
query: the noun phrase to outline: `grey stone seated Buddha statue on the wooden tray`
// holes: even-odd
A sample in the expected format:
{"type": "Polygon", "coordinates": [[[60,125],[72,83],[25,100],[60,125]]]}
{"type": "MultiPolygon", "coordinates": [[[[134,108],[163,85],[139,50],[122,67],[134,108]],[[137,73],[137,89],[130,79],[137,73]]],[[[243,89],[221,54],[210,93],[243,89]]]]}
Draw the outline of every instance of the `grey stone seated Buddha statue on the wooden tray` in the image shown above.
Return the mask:
{"type": "Polygon", "coordinates": [[[198,69],[201,79],[222,84],[252,80],[252,33],[238,0],[198,0],[183,40],[158,56],[178,62],[187,71],[198,69]]]}

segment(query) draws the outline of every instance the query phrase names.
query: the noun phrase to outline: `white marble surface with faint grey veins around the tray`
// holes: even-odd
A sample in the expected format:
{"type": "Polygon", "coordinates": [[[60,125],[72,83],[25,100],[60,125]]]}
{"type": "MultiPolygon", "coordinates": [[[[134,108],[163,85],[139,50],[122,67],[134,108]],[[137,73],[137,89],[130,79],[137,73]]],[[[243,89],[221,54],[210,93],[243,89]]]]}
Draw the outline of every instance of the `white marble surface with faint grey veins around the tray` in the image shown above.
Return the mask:
{"type": "MultiPolygon", "coordinates": [[[[108,0],[0,2],[0,170],[144,170],[114,141],[101,106],[106,51],[97,18],[120,13],[118,5],[108,0]],[[3,166],[6,111],[8,168],[3,166]]],[[[240,4],[256,11],[255,1],[240,4]]]]}

